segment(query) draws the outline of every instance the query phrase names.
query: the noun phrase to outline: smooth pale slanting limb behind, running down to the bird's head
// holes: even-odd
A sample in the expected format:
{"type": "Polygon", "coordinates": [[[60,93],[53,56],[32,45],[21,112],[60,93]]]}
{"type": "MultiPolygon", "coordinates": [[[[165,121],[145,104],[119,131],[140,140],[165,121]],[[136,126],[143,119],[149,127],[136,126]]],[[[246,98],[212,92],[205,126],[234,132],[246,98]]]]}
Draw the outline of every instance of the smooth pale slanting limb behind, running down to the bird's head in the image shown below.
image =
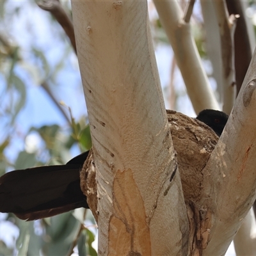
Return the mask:
{"type": "Polygon", "coordinates": [[[184,22],[179,4],[177,1],[161,0],[155,0],[154,3],[195,112],[198,114],[202,109],[220,109],[202,67],[190,24],[184,22]]]}

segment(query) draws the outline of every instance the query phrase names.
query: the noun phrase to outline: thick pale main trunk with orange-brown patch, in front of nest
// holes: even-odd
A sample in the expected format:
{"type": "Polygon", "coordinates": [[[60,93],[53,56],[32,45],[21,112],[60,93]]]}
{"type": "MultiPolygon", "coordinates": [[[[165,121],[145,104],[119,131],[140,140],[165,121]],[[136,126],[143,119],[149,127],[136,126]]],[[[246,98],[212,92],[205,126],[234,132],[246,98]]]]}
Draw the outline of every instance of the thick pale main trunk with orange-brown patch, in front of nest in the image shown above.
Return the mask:
{"type": "Polygon", "coordinates": [[[97,169],[99,255],[187,255],[147,2],[72,1],[72,10],[97,169]]]}

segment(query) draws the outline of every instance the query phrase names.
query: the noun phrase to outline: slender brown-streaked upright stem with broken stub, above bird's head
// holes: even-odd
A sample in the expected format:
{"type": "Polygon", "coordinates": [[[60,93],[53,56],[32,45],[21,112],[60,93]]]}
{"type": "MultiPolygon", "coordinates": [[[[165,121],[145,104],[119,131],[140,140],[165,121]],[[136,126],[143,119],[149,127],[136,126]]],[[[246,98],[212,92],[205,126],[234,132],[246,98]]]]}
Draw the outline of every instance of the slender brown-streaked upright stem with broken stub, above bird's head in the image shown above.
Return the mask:
{"type": "Polygon", "coordinates": [[[239,15],[228,15],[224,0],[212,1],[219,24],[222,60],[223,111],[230,114],[236,99],[234,33],[239,15]]]}

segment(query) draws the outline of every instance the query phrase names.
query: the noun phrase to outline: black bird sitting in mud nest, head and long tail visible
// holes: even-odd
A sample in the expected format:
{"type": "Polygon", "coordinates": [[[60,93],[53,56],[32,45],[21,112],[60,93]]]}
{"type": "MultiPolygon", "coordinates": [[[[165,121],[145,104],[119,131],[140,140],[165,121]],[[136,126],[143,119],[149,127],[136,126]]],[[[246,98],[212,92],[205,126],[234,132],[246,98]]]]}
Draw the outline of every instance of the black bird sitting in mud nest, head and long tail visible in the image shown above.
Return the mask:
{"type": "MultiPolygon", "coordinates": [[[[205,109],[196,119],[218,136],[228,115],[205,109]]],[[[13,212],[22,220],[37,220],[84,207],[89,208],[80,188],[79,171],[89,151],[64,165],[40,166],[8,172],[0,177],[0,212],[13,212]]]]}

